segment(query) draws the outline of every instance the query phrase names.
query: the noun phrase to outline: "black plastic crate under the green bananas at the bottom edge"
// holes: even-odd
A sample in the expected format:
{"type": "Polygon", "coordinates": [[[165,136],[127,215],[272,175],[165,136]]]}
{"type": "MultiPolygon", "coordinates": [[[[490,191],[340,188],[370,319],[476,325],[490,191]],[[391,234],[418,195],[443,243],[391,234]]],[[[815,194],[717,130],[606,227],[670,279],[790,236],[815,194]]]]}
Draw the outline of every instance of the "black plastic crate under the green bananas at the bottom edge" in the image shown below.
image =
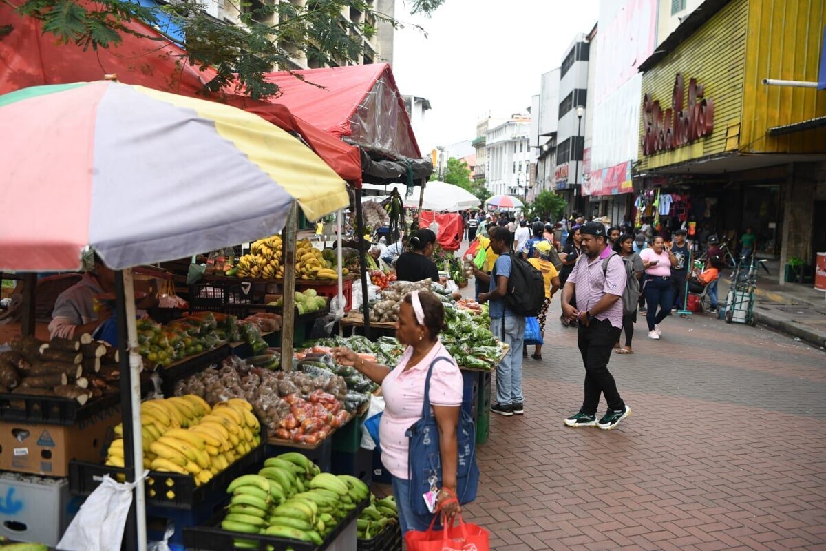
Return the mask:
{"type": "Polygon", "coordinates": [[[359,503],[353,511],[350,511],[347,516],[339,522],[335,530],[327,534],[324,542],[320,545],[299,541],[297,539],[277,538],[263,534],[240,534],[238,532],[223,530],[221,529],[221,520],[224,519],[223,513],[213,516],[206,526],[185,528],[183,530],[183,545],[189,551],[228,551],[229,549],[324,551],[324,549],[330,547],[330,544],[339,537],[339,534],[349,527],[350,523],[354,523],[356,519],[358,519],[358,516],[361,515],[361,512],[369,503],[369,498],[359,503]],[[249,542],[250,545],[235,547],[236,539],[249,542]],[[252,544],[258,544],[258,547],[253,547],[252,544]]]}

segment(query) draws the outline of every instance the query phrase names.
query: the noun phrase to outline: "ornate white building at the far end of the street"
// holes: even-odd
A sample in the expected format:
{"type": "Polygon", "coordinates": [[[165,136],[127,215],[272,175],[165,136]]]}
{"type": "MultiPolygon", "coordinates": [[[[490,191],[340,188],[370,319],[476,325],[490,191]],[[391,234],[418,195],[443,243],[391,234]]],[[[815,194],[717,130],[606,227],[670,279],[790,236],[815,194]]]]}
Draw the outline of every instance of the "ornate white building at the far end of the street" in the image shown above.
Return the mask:
{"type": "Polygon", "coordinates": [[[510,121],[489,128],[484,149],[487,189],[493,195],[526,197],[531,159],[529,117],[516,114],[510,121]]]}

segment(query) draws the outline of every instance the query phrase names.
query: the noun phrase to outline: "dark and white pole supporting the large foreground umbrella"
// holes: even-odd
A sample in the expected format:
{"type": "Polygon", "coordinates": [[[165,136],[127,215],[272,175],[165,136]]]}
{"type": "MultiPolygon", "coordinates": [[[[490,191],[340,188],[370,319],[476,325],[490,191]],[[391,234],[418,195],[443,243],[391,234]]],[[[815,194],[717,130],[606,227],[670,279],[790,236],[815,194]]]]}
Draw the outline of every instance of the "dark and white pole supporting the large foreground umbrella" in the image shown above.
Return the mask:
{"type": "MultiPolygon", "coordinates": [[[[144,470],[143,434],[140,430],[140,370],[138,330],[135,325],[135,289],[130,269],[115,276],[118,354],[121,368],[121,416],[126,482],[135,482],[144,470]]],[[[124,532],[126,549],[146,549],[146,499],[143,484],[135,485],[134,499],[124,532]],[[135,548],[131,545],[136,544],[135,548]]]]}

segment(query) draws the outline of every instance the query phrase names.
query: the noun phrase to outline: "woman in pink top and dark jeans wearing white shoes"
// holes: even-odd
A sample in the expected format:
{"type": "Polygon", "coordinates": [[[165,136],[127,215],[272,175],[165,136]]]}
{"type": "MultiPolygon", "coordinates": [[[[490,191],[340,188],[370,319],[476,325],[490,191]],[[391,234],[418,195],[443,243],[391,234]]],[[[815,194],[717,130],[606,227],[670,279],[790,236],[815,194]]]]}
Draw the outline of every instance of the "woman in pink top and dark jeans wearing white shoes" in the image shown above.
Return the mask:
{"type": "Polygon", "coordinates": [[[659,235],[651,242],[649,249],[639,254],[639,258],[643,259],[643,268],[645,268],[643,294],[648,305],[648,312],[645,316],[648,321],[648,337],[659,339],[662,336],[660,324],[667,316],[671,316],[672,304],[674,304],[671,267],[676,266],[677,259],[659,235]]]}

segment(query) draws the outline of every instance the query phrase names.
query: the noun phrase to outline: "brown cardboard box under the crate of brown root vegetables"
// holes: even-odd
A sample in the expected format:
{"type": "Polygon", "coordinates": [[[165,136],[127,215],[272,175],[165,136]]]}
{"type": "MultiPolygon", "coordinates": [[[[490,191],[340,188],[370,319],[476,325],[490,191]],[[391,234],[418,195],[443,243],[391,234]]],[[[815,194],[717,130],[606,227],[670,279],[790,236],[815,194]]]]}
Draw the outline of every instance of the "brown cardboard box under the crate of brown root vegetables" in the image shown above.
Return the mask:
{"type": "Polygon", "coordinates": [[[0,469],[66,477],[72,459],[103,463],[120,422],[119,406],[71,426],[0,422],[0,469]]]}

